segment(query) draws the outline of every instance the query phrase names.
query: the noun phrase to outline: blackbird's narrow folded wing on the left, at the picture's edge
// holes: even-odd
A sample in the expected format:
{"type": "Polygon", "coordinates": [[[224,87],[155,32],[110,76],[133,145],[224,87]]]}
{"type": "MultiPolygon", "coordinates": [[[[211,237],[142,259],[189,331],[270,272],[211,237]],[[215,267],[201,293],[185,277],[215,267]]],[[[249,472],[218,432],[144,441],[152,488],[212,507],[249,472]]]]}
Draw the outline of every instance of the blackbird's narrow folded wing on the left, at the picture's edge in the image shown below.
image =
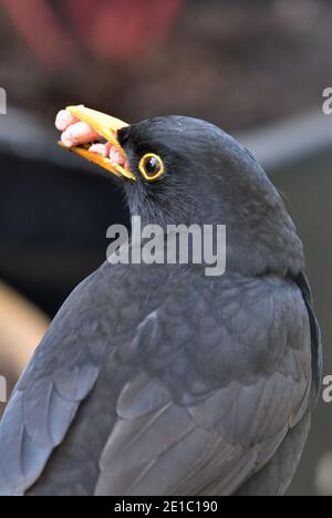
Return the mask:
{"type": "Polygon", "coordinates": [[[0,496],[21,496],[35,483],[96,382],[107,342],[96,342],[93,356],[84,338],[89,321],[77,330],[71,320],[89,287],[90,279],[64,304],[7,405],[0,426],[0,496]]]}

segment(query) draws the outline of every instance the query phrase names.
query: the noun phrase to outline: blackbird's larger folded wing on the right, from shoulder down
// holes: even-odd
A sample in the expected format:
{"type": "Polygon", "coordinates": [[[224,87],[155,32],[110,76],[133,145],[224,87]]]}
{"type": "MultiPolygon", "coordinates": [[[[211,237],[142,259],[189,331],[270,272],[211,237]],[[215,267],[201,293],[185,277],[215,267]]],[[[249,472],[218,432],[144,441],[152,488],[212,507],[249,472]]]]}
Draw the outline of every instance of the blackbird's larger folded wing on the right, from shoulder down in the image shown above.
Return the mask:
{"type": "Polygon", "coordinates": [[[308,411],[309,318],[284,279],[190,273],[116,358],[136,374],[117,398],[96,494],[231,494],[308,411]]]}

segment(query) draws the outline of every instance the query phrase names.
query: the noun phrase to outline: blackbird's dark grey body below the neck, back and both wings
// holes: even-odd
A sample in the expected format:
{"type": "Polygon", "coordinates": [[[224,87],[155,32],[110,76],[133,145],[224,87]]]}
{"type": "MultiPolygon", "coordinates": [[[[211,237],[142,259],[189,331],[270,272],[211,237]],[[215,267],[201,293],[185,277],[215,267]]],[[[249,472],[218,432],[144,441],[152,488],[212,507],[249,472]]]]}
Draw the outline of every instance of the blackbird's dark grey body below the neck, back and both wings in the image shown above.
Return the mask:
{"type": "Polygon", "coordinates": [[[312,336],[291,279],[105,263],[9,403],[0,494],[229,495],[263,468],[255,491],[283,491],[313,405],[312,336]]]}

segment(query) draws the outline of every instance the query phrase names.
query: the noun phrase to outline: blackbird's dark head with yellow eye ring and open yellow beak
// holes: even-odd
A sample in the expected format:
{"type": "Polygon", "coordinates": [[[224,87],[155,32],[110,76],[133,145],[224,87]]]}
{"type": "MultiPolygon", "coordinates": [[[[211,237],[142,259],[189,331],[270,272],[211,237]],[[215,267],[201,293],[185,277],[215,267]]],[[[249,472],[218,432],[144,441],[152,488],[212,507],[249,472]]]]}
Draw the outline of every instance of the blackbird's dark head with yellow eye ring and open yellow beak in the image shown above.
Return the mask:
{"type": "Polygon", "coordinates": [[[72,149],[120,178],[132,216],[160,226],[226,225],[227,265],[242,273],[303,268],[302,244],[278,190],[227,133],[185,116],[128,125],[83,106],[68,110],[125,157],[123,167],[89,146],[72,149]]]}

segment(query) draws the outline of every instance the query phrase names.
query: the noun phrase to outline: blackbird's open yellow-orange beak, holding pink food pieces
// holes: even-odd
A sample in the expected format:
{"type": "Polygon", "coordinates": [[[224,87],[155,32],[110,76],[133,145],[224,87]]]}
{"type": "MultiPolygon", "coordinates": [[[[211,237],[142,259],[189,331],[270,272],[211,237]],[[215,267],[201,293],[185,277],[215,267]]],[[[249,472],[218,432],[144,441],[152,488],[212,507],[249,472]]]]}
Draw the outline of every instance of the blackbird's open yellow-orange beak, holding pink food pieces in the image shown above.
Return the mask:
{"type": "MultiPolygon", "coordinates": [[[[128,124],[120,121],[118,118],[112,117],[111,115],[96,112],[95,110],[91,110],[85,106],[68,106],[66,110],[76,118],[79,118],[79,121],[87,123],[102,137],[106,138],[107,142],[111,142],[121,151],[124,156],[126,156],[125,151],[118,144],[117,131],[122,130],[123,127],[127,127],[128,124]]],[[[61,142],[59,145],[65,149],[70,149],[71,152],[82,156],[90,162],[93,162],[94,164],[97,164],[100,167],[103,167],[115,176],[123,176],[125,178],[135,180],[135,176],[131,170],[125,169],[121,165],[112,164],[110,158],[103,157],[97,153],[90,152],[89,144],[70,148],[65,147],[61,142]]]]}

